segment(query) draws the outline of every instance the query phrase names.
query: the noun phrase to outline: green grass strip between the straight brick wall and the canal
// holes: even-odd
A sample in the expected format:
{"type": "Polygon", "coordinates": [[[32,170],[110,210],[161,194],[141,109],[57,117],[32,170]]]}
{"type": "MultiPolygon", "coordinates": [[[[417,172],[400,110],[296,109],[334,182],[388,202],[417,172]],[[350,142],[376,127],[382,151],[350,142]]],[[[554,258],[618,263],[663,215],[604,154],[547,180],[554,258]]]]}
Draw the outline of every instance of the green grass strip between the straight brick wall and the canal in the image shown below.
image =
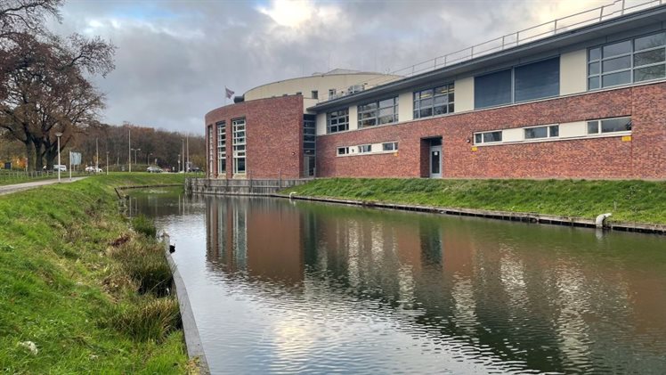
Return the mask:
{"type": "Polygon", "coordinates": [[[666,182],[586,180],[314,180],[284,193],[666,224],[666,182]]]}

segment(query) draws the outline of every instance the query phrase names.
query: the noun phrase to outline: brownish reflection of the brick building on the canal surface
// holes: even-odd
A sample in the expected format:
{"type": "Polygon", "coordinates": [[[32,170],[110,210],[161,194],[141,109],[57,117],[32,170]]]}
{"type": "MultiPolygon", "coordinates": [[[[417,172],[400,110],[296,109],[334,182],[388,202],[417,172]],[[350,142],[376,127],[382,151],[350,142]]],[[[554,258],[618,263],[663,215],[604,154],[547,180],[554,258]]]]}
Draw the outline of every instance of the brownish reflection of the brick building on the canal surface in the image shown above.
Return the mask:
{"type": "Polygon", "coordinates": [[[207,199],[206,222],[215,272],[300,291],[328,282],[508,363],[617,371],[660,364],[666,349],[654,313],[666,311],[661,268],[621,255],[637,237],[254,198],[207,199]],[[637,335],[656,343],[654,356],[635,353],[637,335]]]}

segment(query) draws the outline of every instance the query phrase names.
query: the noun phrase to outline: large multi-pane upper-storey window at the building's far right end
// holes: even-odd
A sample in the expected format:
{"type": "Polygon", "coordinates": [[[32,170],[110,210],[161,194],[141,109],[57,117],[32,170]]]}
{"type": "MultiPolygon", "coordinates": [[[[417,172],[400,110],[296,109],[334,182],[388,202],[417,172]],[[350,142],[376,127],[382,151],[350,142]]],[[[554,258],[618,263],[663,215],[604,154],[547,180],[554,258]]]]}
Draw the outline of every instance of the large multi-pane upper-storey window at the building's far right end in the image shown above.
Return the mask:
{"type": "Polygon", "coordinates": [[[588,51],[588,88],[626,85],[666,77],[666,32],[588,51]]]}

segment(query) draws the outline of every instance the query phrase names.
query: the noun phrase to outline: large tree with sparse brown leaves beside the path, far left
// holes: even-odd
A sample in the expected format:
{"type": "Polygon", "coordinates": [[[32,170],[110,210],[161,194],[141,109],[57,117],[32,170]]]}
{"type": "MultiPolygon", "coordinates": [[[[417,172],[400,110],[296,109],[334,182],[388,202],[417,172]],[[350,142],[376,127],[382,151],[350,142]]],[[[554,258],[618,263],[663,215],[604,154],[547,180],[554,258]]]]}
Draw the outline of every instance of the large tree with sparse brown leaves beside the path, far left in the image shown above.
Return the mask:
{"type": "Polygon", "coordinates": [[[62,133],[64,149],[73,135],[97,122],[103,95],[85,73],[109,73],[114,68],[115,47],[78,35],[38,40],[31,34],[17,34],[13,40],[16,44],[0,65],[5,77],[0,128],[25,144],[29,168],[41,168],[44,158],[52,167],[58,152],[55,134],[62,133]]]}

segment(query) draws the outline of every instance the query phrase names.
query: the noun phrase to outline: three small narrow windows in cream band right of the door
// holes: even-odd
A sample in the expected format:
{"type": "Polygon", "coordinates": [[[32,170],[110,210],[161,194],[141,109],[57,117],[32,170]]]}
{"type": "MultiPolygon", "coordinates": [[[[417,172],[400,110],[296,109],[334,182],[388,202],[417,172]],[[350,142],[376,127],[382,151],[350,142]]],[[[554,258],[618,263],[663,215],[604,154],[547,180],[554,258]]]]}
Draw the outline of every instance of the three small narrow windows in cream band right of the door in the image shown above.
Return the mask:
{"type": "MultiPolygon", "coordinates": [[[[524,132],[523,141],[559,138],[560,136],[559,125],[530,126],[522,129],[524,132]]],[[[603,118],[587,121],[586,135],[604,135],[629,131],[631,131],[631,118],[603,118]]],[[[504,141],[503,135],[504,130],[475,133],[474,143],[501,143],[504,141]]]]}

